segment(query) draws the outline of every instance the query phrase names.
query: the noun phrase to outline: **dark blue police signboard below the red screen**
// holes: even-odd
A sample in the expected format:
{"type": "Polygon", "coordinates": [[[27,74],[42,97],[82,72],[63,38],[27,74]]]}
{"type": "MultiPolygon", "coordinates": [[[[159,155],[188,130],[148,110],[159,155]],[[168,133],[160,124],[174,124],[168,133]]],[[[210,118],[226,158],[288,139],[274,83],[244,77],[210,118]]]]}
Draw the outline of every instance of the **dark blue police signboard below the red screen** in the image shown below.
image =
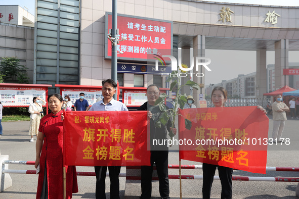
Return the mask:
{"type": "Polygon", "coordinates": [[[155,70],[155,66],[148,65],[136,65],[136,64],[117,64],[118,73],[140,73],[140,74],[161,74],[171,73],[172,67],[159,66],[158,71],[155,70]]]}

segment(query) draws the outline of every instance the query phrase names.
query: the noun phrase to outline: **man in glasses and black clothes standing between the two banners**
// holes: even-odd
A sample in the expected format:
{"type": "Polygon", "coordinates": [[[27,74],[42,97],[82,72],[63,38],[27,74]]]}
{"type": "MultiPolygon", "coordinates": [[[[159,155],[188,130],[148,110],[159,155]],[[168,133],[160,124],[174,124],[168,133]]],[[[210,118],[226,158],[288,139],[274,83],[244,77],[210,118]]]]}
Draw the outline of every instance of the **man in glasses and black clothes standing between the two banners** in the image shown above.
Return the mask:
{"type": "MultiPolygon", "coordinates": [[[[170,198],[168,181],[168,147],[167,145],[153,145],[153,139],[167,139],[167,131],[172,131],[174,134],[177,134],[177,129],[172,129],[172,117],[170,117],[165,126],[161,124],[161,128],[155,127],[155,122],[163,113],[160,111],[159,106],[155,106],[155,102],[160,95],[159,87],[155,84],[149,85],[146,90],[146,95],[148,102],[139,107],[137,111],[148,111],[148,117],[150,118],[151,166],[141,166],[140,198],[151,198],[154,163],[156,163],[161,198],[170,198]]],[[[168,107],[166,108],[168,109],[168,107]]]]}

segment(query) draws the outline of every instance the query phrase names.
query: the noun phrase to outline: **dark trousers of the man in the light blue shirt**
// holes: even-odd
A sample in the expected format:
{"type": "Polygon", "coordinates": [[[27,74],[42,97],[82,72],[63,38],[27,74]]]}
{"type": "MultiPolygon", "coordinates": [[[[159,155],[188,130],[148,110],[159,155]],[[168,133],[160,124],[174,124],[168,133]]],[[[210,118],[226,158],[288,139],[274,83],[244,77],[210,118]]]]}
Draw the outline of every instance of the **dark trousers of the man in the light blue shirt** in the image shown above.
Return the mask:
{"type": "MultiPolygon", "coordinates": [[[[109,170],[109,178],[110,178],[110,198],[119,199],[119,173],[120,166],[110,166],[109,170]]],[[[105,199],[105,179],[107,173],[107,167],[95,167],[97,183],[96,183],[96,198],[97,199],[105,199]]]]}

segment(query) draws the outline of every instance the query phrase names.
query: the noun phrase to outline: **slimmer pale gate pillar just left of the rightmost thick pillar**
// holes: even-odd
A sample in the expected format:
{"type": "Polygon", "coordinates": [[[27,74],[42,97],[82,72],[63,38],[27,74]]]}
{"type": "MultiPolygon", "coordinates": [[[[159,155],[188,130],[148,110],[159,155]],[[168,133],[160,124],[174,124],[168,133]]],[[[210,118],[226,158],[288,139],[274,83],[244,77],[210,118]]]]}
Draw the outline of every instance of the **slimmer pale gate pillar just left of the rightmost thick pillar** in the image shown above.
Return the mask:
{"type": "Polygon", "coordinates": [[[257,51],[257,80],[255,83],[255,96],[263,98],[267,93],[267,50],[259,49],[257,51]]]}

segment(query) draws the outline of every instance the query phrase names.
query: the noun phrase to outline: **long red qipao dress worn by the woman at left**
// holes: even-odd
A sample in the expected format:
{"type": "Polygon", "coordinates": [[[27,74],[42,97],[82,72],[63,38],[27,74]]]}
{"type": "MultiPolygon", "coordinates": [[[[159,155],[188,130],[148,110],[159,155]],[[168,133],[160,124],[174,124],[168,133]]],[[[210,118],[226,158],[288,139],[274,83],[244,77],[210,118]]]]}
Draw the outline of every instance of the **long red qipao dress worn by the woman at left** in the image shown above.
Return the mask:
{"type": "MultiPolygon", "coordinates": [[[[40,198],[44,183],[45,164],[47,165],[48,198],[63,198],[63,133],[61,113],[46,115],[40,120],[39,132],[44,133],[39,160],[39,175],[36,198],[40,198]]],[[[78,192],[75,166],[66,166],[66,198],[71,198],[72,193],[78,192]]]]}

